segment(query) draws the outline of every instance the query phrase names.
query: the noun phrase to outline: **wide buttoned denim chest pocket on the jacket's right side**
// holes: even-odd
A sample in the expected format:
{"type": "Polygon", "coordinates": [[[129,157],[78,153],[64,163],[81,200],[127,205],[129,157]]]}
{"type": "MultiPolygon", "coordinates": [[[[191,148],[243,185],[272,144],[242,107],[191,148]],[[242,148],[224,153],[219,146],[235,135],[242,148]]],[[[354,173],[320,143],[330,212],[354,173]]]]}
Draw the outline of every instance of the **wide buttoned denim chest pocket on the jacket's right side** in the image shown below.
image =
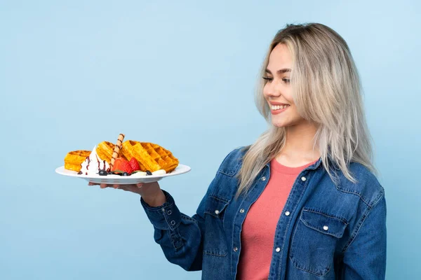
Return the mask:
{"type": "Polygon", "coordinates": [[[290,245],[293,265],[317,276],[326,275],[333,267],[333,254],[348,223],[318,211],[302,209],[290,245]]]}

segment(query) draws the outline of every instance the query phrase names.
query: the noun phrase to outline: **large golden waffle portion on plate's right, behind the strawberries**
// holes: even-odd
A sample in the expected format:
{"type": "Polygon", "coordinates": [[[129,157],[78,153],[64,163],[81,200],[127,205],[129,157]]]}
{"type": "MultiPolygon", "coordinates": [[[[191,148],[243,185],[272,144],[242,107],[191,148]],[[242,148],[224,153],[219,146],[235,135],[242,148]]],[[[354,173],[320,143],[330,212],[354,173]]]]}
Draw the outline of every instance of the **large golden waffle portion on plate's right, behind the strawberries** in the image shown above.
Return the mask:
{"type": "Polygon", "coordinates": [[[128,140],[123,142],[121,154],[127,160],[138,160],[142,172],[155,172],[163,169],[172,172],[178,166],[178,159],[173,153],[158,144],[128,140]]]}

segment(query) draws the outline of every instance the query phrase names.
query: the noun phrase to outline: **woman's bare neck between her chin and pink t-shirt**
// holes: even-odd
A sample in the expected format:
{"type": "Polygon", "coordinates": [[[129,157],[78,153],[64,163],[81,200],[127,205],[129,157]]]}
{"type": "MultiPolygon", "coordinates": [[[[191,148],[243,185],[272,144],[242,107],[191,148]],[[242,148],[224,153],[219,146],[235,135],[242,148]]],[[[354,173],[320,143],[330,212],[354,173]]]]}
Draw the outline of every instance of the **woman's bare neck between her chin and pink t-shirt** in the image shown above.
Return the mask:
{"type": "Polygon", "coordinates": [[[276,160],[290,167],[307,165],[309,162],[318,160],[319,148],[313,149],[316,132],[316,125],[308,122],[286,127],[285,145],[276,156],[276,160]]]}

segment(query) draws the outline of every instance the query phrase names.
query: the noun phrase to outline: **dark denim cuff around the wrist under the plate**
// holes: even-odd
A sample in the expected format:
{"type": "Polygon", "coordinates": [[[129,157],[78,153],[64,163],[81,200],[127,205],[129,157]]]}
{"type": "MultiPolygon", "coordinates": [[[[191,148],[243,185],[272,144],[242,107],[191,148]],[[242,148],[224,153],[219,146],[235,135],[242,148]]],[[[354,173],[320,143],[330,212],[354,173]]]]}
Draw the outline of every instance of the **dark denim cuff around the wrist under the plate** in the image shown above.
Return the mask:
{"type": "Polygon", "coordinates": [[[145,200],[140,197],[140,203],[149,221],[154,225],[154,228],[159,230],[175,230],[180,225],[181,214],[178,207],[175,205],[173,197],[162,190],[166,196],[166,202],[159,207],[150,207],[145,200]]]}

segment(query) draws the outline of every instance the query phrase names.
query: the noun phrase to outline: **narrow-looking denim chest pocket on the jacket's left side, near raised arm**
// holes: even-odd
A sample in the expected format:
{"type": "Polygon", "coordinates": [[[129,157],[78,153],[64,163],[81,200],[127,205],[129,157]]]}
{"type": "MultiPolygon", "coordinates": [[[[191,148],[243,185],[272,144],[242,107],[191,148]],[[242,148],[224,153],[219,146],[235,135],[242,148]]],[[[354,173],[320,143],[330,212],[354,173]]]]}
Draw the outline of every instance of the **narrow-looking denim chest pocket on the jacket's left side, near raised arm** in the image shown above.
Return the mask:
{"type": "Polygon", "coordinates": [[[223,257],[227,255],[227,239],[225,238],[224,216],[229,200],[216,195],[209,195],[205,208],[205,235],[203,253],[223,257]]]}

